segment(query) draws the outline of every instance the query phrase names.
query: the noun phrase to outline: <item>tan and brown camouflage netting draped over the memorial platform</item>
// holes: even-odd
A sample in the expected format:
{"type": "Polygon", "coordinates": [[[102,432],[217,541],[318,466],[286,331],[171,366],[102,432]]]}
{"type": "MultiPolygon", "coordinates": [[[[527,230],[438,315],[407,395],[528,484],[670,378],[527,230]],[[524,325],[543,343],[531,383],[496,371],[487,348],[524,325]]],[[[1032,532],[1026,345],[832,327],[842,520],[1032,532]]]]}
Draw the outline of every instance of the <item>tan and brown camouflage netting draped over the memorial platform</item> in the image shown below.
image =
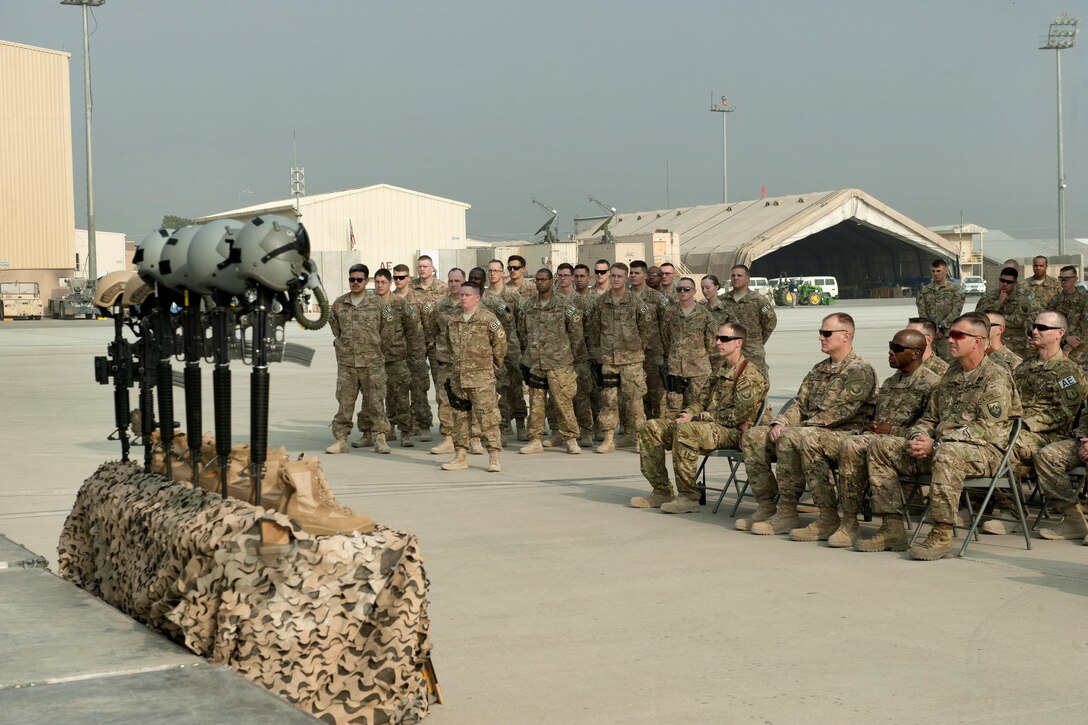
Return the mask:
{"type": "Polygon", "coordinates": [[[107,463],[84,483],[61,575],[212,663],[333,723],[415,723],[430,704],[416,538],[312,537],[286,516],[107,463]],[[293,541],[262,546],[274,520],[293,541]]]}

